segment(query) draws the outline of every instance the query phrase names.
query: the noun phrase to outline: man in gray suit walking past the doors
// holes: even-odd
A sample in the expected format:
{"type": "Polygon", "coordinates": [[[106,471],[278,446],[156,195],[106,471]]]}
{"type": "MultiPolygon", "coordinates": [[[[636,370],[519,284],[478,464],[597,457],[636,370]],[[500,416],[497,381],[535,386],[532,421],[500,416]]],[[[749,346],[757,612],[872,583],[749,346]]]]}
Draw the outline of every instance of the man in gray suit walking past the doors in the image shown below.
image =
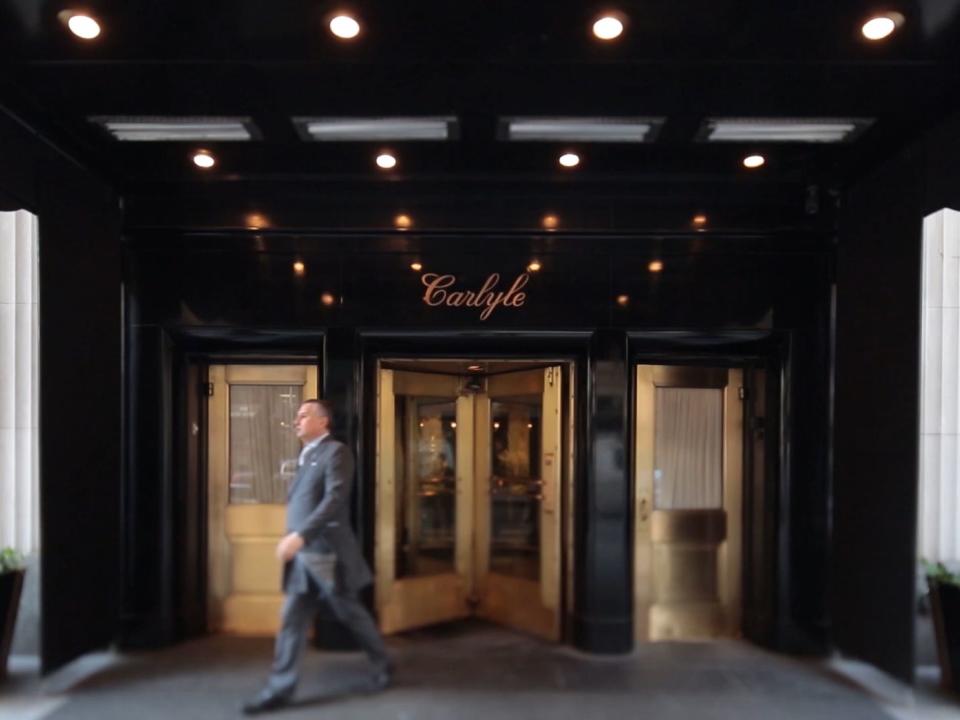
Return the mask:
{"type": "Polygon", "coordinates": [[[243,706],[248,715],[290,703],[307,629],[321,597],[373,663],[372,688],[383,689],[391,681],[392,666],[383,640],[357,597],[373,577],[350,529],[353,456],[330,436],[331,410],[324,400],[306,400],[294,421],[303,449],[287,492],[287,535],[277,544],[287,597],[273,670],[267,686],[243,706]]]}

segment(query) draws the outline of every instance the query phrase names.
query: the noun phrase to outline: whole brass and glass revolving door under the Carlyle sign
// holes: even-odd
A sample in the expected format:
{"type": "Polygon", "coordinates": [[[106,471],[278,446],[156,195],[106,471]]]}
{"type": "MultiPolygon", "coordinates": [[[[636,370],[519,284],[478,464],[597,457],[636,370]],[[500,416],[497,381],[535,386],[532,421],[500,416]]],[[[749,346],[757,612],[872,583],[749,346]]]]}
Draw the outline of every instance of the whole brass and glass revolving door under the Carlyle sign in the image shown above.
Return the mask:
{"type": "Polygon", "coordinates": [[[478,615],[559,638],[562,386],[560,367],[380,370],[384,632],[478,615]]]}

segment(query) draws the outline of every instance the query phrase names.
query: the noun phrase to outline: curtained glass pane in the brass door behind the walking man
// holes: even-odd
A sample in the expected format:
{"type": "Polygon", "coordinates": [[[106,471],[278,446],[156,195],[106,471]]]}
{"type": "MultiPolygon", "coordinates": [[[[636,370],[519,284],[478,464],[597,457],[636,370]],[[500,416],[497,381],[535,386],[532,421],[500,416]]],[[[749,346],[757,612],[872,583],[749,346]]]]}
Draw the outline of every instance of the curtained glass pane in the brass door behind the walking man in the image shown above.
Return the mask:
{"type": "Polygon", "coordinates": [[[297,471],[300,441],[293,418],[302,388],[230,386],[230,502],[287,501],[297,471]]]}

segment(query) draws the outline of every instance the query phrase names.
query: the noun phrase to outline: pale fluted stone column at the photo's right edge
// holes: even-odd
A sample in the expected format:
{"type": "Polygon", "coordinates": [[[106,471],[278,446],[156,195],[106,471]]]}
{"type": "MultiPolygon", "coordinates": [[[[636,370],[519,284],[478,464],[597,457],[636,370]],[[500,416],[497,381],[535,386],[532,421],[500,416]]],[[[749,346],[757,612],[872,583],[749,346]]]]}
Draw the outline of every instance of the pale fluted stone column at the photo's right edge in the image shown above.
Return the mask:
{"type": "Polygon", "coordinates": [[[960,563],[960,213],[955,210],[923,221],[922,298],[920,555],[960,563]]]}

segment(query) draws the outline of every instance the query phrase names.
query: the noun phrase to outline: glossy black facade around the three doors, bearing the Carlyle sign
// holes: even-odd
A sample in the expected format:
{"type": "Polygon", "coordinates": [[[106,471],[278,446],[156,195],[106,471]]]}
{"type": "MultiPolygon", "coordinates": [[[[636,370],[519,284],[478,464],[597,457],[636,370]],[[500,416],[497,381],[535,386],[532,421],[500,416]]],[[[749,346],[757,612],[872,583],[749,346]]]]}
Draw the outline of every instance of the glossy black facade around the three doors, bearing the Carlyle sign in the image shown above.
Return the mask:
{"type": "MultiPolygon", "coordinates": [[[[814,233],[408,234],[129,229],[125,263],[125,562],[121,638],[152,646],[202,623],[202,533],[188,533],[184,388],[210,358],[319,363],[356,449],[356,521],[372,548],[373,390],[380,355],[564,357],[577,367],[574,601],[568,642],[632,647],[633,366],[762,369],[766,467],[746,534],[745,634],[824,651],[833,243],[814,233]],[[487,320],[430,307],[423,273],[506,289],[536,258],[522,307],[487,320]],[[652,259],[663,262],[652,273],[652,259]],[[303,277],[293,272],[297,260],[303,277]],[[332,305],[321,301],[335,298],[332,305]],[[617,302],[628,295],[629,302],[617,302]],[[173,529],[178,528],[178,532],[173,529]],[[185,534],[186,533],[186,534],[185,534]],[[184,547],[193,537],[195,549],[184,547]],[[185,590],[192,588],[193,590],[185,590]],[[193,593],[191,595],[191,592],[193,593]]],[[[201,371],[202,372],[202,371],[201,371]]],[[[748,373],[749,375],[749,373],[748,373]]],[[[189,545],[189,543],[188,543],[189,545]]]]}

